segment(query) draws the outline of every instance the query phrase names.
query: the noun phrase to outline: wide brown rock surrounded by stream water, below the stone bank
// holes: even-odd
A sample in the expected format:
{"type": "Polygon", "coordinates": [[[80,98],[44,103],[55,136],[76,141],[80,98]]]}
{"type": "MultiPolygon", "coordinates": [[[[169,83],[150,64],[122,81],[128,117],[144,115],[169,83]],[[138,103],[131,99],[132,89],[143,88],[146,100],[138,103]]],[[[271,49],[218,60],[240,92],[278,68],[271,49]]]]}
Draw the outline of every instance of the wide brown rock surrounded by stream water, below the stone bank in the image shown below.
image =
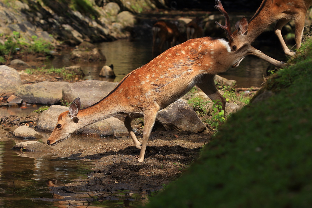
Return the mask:
{"type": "Polygon", "coordinates": [[[92,50],[77,48],[71,52],[70,59],[72,61],[105,61],[106,57],[100,48],[93,48],[92,50]]]}

